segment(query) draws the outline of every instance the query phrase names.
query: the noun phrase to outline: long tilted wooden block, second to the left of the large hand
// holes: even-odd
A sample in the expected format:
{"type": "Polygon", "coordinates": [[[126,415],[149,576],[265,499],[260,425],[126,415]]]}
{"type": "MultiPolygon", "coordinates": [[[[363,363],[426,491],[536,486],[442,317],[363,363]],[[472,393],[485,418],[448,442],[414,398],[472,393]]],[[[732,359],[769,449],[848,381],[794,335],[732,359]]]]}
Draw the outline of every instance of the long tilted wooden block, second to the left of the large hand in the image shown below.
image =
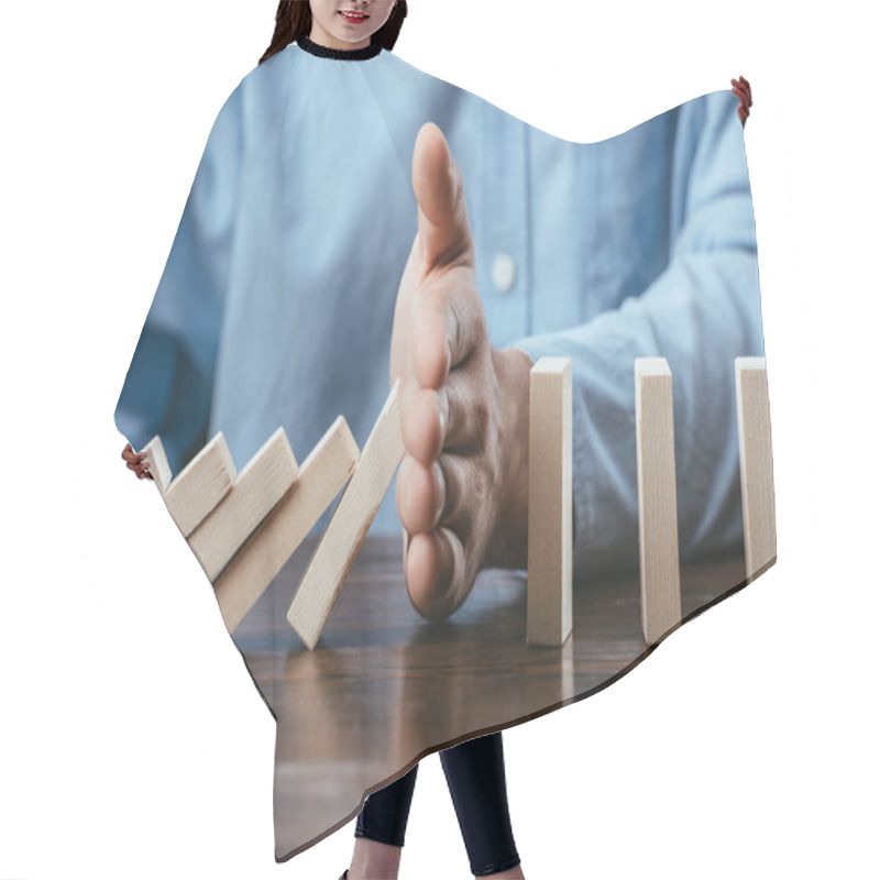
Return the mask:
{"type": "Polygon", "coordinates": [[[330,506],[356,463],[358,443],[340,416],[302,462],[293,486],[215,581],[230,632],[330,506]]]}

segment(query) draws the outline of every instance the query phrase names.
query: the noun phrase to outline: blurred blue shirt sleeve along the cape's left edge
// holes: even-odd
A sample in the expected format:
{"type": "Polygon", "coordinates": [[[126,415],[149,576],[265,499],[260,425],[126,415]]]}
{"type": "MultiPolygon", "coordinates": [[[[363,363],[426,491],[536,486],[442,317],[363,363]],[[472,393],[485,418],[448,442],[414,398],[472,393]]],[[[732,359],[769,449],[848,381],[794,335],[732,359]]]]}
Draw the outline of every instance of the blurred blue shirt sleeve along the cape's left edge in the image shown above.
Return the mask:
{"type": "Polygon", "coordinates": [[[160,435],[173,472],[204,446],[242,151],[241,87],[208,138],[116,410],[134,449],[160,435]]]}

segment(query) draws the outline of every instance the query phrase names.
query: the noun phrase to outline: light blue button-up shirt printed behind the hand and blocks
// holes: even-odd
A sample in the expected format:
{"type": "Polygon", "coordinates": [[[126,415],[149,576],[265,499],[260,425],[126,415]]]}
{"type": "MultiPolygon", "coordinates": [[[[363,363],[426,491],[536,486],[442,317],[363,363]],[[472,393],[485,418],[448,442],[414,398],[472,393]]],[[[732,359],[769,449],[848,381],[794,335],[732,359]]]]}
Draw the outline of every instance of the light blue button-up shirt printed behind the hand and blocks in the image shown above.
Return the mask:
{"type": "MultiPolygon", "coordinates": [[[[673,374],[682,553],[741,540],[734,358],[763,345],[736,108],[716,92],[574,144],[387,52],[288,46],[215,122],[120,431],[135,448],[161,435],[175,473],[219,430],[238,468],[279,425],[301,461],[340,414],[363,447],[417,229],[413,147],[433,121],[462,172],[493,344],[573,361],[575,572],[638,558],[638,356],[673,374]]],[[[389,492],[373,531],[393,530],[389,492]]]]}

